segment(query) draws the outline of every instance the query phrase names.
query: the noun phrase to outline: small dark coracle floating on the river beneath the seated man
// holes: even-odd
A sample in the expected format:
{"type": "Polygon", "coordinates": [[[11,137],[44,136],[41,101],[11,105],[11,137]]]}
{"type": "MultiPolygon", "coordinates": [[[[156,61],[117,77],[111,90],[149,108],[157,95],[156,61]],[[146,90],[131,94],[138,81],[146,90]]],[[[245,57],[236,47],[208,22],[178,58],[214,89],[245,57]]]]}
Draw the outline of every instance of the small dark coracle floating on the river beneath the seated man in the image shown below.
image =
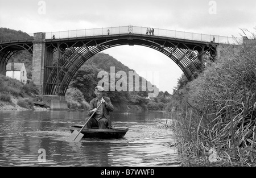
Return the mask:
{"type": "MultiPolygon", "coordinates": [[[[69,127],[71,133],[74,130],[80,131],[84,125],[73,125],[69,127]]],[[[84,134],[82,138],[123,138],[128,127],[113,127],[113,129],[82,129],[81,133],[84,134]]]]}

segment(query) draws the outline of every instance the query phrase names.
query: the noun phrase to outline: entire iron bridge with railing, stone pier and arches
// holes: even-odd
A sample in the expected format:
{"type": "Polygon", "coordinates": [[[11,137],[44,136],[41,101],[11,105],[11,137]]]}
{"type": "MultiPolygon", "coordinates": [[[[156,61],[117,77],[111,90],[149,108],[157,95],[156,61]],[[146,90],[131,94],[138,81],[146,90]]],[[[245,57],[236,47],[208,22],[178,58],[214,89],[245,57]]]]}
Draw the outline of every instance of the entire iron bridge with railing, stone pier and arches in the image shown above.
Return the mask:
{"type": "Polygon", "coordinates": [[[119,45],[142,45],[170,57],[189,80],[203,70],[203,55],[218,57],[218,45],[232,38],[147,27],[123,26],[35,33],[28,39],[0,41],[0,73],[5,74],[11,56],[20,50],[33,54],[32,80],[42,94],[65,96],[69,82],[90,57],[119,45]],[[57,63],[53,53],[57,52],[57,63]]]}

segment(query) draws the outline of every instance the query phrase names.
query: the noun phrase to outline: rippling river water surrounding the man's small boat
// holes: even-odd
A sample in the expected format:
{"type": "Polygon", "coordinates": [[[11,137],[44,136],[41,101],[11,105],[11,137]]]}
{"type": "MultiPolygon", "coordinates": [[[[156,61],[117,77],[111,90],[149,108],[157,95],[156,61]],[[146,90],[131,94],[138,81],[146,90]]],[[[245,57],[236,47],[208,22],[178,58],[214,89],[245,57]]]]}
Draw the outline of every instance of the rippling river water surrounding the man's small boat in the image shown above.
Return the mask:
{"type": "Polygon", "coordinates": [[[0,166],[178,166],[175,136],[162,112],[111,113],[112,125],[129,127],[122,139],[67,142],[69,126],[86,111],[0,111],[0,166]]]}

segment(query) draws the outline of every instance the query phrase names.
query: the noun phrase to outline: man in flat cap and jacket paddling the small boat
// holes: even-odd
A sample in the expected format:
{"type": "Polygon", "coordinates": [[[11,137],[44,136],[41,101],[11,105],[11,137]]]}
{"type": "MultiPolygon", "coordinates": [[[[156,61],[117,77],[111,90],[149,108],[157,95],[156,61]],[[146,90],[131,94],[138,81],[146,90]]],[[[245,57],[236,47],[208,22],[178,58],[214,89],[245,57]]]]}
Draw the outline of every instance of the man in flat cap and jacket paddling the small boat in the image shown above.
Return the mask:
{"type": "MultiPolygon", "coordinates": [[[[85,129],[90,129],[92,127],[98,127],[98,129],[111,129],[111,118],[109,115],[110,111],[114,110],[114,107],[110,101],[109,97],[102,96],[104,92],[104,88],[102,86],[96,86],[94,88],[94,94],[96,94],[96,98],[90,101],[89,113],[88,115],[94,115],[90,118],[89,122],[86,124],[85,129]],[[98,105],[101,106],[97,109],[98,105]]],[[[85,119],[85,122],[88,121],[89,117],[85,119]]]]}

